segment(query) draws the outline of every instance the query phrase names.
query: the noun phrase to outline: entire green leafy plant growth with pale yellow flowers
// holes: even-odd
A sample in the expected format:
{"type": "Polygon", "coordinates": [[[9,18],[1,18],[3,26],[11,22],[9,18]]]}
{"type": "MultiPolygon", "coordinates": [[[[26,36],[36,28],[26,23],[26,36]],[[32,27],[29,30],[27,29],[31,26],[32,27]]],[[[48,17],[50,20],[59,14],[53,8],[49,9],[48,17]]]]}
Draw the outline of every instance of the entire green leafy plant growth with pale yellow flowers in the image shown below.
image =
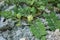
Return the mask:
{"type": "Polygon", "coordinates": [[[16,5],[13,9],[14,13],[11,10],[2,11],[0,16],[5,17],[6,19],[11,18],[16,20],[16,26],[20,26],[21,18],[26,17],[29,23],[33,22],[30,25],[32,33],[35,37],[40,38],[41,40],[46,40],[46,29],[37,16],[41,16],[43,14],[48,22],[50,30],[54,31],[57,28],[60,29],[60,20],[57,20],[56,13],[54,11],[54,7],[57,7],[58,9],[60,8],[60,0],[5,0],[5,3],[8,5],[16,5]],[[51,11],[50,14],[44,13],[46,8],[51,11]]]}

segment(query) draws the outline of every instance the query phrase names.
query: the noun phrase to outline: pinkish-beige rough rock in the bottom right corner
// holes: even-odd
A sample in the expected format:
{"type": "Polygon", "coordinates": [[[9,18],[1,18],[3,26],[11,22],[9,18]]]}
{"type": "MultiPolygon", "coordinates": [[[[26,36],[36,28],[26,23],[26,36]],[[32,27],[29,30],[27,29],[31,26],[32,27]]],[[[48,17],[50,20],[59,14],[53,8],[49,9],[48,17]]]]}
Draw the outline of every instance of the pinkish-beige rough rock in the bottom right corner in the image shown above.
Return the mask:
{"type": "Polygon", "coordinates": [[[48,35],[46,36],[47,40],[60,40],[60,32],[59,29],[53,31],[47,31],[48,35]]]}

